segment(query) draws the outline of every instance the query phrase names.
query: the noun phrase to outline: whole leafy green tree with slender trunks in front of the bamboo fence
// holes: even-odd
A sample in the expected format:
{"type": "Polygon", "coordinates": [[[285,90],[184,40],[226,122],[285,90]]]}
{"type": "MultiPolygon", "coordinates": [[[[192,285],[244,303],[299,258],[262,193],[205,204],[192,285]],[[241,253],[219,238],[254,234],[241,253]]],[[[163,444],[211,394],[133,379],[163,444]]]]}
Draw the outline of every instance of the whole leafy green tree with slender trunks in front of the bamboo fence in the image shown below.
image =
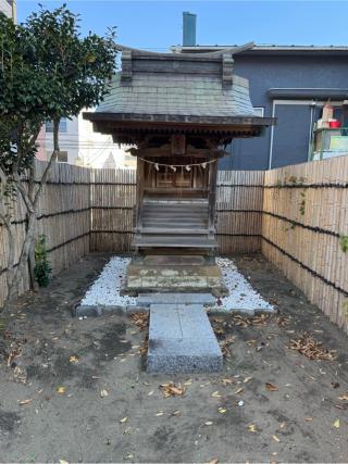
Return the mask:
{"type": "Polygon", "coordinates": [[[115,67],[114,40],[114,29],[105,37],[92,33],[83,37],[78,15],[65,4],[53,11],[41,7],[21,25],[0,13],[0,220],[9,237],[10,299],[17,292],[30,253],[34,259],[36,210],[59,153],[60,120],[97,105],[108,92],[115,67]],[[54,148],[37,178],[36,141],[47,121],[53,122],[54,148]],[[27,210],[18,263],[14,262],[11,217],[16,195],[27,210]]]}

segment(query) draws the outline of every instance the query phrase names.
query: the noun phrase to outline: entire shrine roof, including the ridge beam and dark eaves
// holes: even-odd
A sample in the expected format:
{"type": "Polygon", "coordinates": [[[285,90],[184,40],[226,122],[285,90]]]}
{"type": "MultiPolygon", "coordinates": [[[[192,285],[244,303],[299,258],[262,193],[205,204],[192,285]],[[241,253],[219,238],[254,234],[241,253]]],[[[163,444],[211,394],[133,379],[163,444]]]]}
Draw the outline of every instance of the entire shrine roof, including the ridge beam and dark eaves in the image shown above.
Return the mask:
{"type": "Polygon", "coordinates": [[[92,121],[97,130],[107,129],[107,125],[110,128],[111,122],[113,127],[116,123],[171,123],[182,128],[219,125],[225,129],[270,125],[272,118],[253,112],[248,80],[233,73],[235,50],[240,48],[184,55],[122,47],[122,72],[114,75],[97,111],[84,113],[84,117],[92,121]]]}

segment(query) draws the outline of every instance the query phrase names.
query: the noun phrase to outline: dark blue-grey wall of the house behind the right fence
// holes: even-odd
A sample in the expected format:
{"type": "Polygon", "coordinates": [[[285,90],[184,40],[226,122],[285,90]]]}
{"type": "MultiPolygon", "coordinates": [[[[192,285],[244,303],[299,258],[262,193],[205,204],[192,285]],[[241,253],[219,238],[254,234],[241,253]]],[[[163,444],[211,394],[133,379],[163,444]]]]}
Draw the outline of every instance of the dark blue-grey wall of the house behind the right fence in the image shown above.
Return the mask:
{"type": "MultiPolygon", "coordinates": [[[[264,116],[272,116],[273,102],[278,99],[269,95],[270,89],[284,89],[282,100],[287,100],[287,104],[275,104],[274,115],[278,124],[273,129],[271,167],[308,161],[312,123],[321,117],[321,106],[315,108],[311,100],[327,101],[335,89],[346,92],[347,53],[314,51],[285,54],[279,51],[262,55],[250,51],[235,55],[235,72],[249,79],[251,102],[253,106],[264,108],[264,116]],[[326,90],[319,91],[323,88],[326,90]],[[303,97],[294,98],[290,89],[308,90],[303,97]]],[[[348,93],[345,98],[348,99],[348,93]]],[[[341,101],[343,96],[338,100],[341,101]]],[[[269,168],[271,139],[272,129],[268,128],[263,137],[234,140],[229,147],[233,154],[221,160],[220,168],[269,168]]]]}

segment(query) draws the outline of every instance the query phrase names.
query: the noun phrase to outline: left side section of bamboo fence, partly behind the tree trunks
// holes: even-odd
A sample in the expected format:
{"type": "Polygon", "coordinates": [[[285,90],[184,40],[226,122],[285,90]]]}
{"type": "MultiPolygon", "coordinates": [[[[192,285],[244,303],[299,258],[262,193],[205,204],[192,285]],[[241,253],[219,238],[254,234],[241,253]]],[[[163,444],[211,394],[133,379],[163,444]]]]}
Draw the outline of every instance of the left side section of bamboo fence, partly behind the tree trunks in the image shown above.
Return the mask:
{"type": "MultiPolygon", "coordinates": [[[[46,163],[36,162],[37,178],[46,163]]],[[[53,275],[89,252],[90,170],[57,163],[42,189],[36,235],[47,238],[53,275]]],[[[20,259],[26,228],[25,206],[18,197],[14,205],[15,260],[20,259]]],[[[7,294],[8,234],[0,224],[0,306],[7,294]]],[[[21,292],[29,288],[28,273],[21,292]]]]}

